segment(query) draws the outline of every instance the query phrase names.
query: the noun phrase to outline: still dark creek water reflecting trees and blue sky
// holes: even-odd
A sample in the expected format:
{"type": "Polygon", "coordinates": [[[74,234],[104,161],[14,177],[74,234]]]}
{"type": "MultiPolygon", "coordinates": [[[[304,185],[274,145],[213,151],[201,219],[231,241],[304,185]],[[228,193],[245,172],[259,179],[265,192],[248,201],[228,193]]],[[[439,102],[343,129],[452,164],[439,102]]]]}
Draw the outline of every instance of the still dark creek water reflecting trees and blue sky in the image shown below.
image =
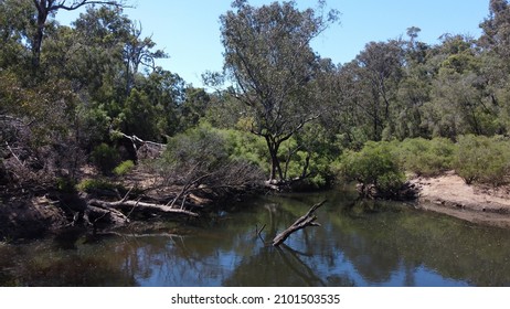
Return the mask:
{"type": "Polygon", "coordinates": [[[338,190],[264,196],[142,234],[1,244],[0,286],[510,286],[510,231],[354,200],[338,190]],[[322,226],[266,244],[322,199],[322,226]]]}

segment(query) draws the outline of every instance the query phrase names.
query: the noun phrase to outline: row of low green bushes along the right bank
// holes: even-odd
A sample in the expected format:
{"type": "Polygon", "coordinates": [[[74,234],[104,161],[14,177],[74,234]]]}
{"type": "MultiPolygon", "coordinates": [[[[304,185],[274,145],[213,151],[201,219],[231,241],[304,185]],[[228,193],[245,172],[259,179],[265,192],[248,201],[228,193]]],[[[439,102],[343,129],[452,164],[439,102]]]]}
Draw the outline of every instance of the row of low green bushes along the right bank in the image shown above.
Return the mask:
{"type": "Polygon", "coordinates": [[[348,150],[336,162],[337,174],[378,190],[391,191],[405,180],[403,171],[433,177],[455,169],[467,184],[495,187],[510,178],[510,140],[503,137],[459,136],[449,139],[423,138],[397,141],[369,141],[355,152],[348,150]]]}

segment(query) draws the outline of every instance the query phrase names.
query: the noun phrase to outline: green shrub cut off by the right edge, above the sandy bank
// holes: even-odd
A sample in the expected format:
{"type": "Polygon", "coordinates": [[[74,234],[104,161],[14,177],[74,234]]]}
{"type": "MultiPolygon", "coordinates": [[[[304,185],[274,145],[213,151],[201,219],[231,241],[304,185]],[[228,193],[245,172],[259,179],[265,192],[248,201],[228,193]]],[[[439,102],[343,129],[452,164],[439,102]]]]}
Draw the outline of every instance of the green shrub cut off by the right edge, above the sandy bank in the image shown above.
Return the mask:
{"type": "Polygon", "coordinates": [[[510,142],[485,136],[460,136],[454,167],[467,184],[503,184],[510,171],[510,142]]]}

